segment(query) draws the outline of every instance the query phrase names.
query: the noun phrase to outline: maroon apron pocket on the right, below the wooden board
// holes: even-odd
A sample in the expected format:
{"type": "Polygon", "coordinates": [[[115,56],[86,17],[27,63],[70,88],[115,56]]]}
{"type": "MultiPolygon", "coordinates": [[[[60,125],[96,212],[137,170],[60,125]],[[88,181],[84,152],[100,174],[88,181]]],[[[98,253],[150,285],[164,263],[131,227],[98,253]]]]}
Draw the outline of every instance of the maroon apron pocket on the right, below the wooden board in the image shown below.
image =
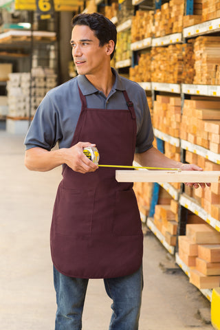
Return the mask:
{"type": "Polygon", "coordinates": [[[113,234],[116,236],[137,235],[142,232],[140,212],[133,190],[116,192],[113,234]]]}

